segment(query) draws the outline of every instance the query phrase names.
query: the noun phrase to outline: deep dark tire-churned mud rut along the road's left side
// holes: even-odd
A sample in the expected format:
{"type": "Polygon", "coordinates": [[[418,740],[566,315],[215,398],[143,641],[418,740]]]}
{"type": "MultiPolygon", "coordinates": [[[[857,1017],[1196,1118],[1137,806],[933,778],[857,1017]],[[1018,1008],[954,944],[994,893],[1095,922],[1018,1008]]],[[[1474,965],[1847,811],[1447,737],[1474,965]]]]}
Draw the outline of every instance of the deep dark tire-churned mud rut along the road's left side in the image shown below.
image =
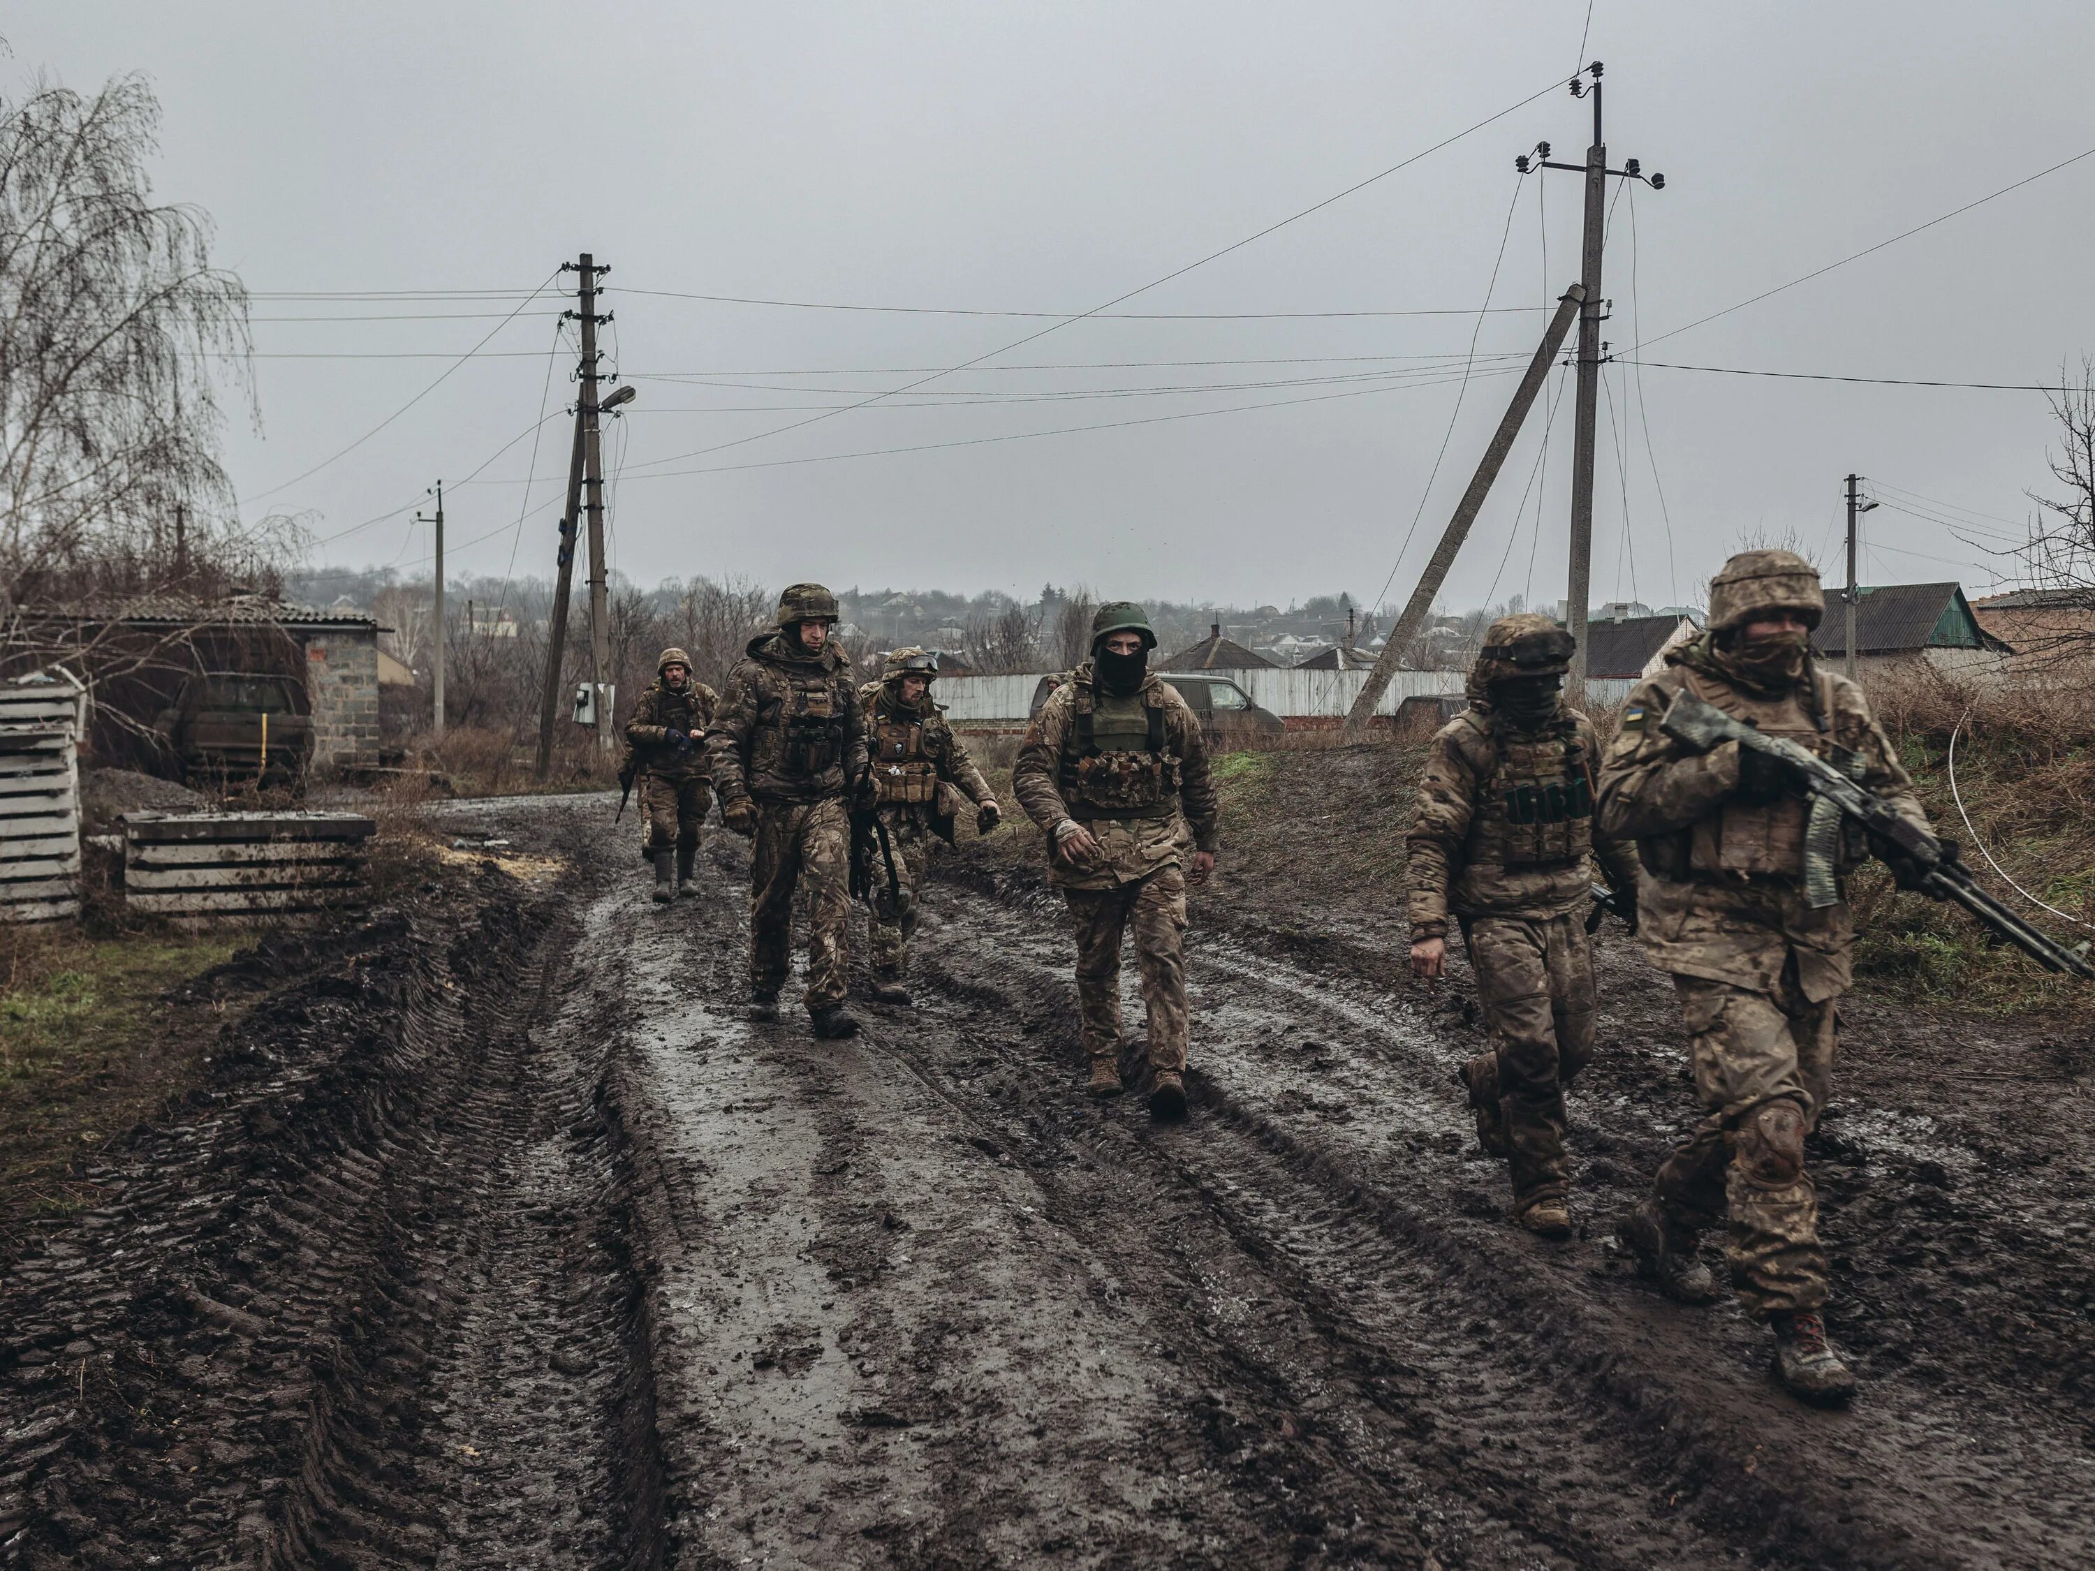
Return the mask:
{"type": "Polygon", "coordinates": [[[492,865],[350,934],[107,1230],[17,1271],[8,1563],[662,1563],[622,1131],[601,1043],[545,1020],[564,938],[492,865]]]}

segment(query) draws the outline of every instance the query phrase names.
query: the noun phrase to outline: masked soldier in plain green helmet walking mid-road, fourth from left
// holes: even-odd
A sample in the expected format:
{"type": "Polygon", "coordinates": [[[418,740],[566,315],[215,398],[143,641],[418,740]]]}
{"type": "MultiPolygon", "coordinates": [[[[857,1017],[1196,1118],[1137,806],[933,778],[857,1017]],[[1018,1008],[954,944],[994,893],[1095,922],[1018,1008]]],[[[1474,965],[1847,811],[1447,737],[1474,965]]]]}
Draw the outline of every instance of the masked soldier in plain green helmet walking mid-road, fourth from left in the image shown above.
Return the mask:
{"type": "Polygon", "coordinates": [[[1148,670],[1156,633],[1131,601],[1091,618],[1091,660],[1027,727],[1012,794],[1048,836],[1048,878],[1077,932],[1091,1096],[1121,1091],[1121,934],[1148,1003],[1150,1112],[1186,1112],[1186,884],[1215,867],[1217,802],[1200,721],[1148,670]],[[1190,865],[1188,865],[1190,863],[1190,865]]]}

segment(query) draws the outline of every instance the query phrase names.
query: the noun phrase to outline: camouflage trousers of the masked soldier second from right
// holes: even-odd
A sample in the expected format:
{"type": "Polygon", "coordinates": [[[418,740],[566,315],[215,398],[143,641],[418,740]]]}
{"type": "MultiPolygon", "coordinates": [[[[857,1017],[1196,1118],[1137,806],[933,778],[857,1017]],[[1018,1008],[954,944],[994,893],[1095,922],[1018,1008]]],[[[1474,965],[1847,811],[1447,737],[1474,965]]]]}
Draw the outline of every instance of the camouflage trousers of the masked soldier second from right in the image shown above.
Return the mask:
{"type": "Polygon", "coordinates": [[[1462,938],[1494,1037],[1490,1072],[1475,1064],[1467,1077],[1471,1096],[1496,1085],[1513,1204],[1563,1200],[1563,1087],[1592,1062],[1592,941],[1578,913],[1464,917],[1462,938]]]}

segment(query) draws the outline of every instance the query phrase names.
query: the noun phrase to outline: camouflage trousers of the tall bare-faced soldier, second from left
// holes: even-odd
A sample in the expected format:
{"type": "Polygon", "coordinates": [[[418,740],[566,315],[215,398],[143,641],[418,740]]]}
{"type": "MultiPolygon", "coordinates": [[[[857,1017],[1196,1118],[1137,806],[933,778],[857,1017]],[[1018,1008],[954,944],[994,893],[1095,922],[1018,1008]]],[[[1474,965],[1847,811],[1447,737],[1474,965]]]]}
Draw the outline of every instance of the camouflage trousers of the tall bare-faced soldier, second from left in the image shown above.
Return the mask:
{"type": "Polygon", "coordinates": [[[807,1008],[844,997],[851,928],[851,811],[842,796],[758,802],[750,850],[750,989],[777,993],[792,970],[792,897],[807,894],[807,1008]]]}

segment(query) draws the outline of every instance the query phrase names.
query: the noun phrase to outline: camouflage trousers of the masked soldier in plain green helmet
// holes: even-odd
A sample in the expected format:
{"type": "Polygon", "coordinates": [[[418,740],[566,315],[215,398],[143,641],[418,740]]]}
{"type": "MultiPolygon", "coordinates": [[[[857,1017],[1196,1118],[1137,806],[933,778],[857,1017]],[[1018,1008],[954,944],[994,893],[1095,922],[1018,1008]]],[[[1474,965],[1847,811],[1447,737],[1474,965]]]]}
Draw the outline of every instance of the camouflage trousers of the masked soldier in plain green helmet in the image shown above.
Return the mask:
{"type": "Polygon", "coordinates": [[[1077,932],[1083,1052],[1121,1056],[1121,936],[1133,928],[1150,1068],[1186,1068],[1186,873],[1177,863],[1117,888],[1064,888],[1077,932]]]}

